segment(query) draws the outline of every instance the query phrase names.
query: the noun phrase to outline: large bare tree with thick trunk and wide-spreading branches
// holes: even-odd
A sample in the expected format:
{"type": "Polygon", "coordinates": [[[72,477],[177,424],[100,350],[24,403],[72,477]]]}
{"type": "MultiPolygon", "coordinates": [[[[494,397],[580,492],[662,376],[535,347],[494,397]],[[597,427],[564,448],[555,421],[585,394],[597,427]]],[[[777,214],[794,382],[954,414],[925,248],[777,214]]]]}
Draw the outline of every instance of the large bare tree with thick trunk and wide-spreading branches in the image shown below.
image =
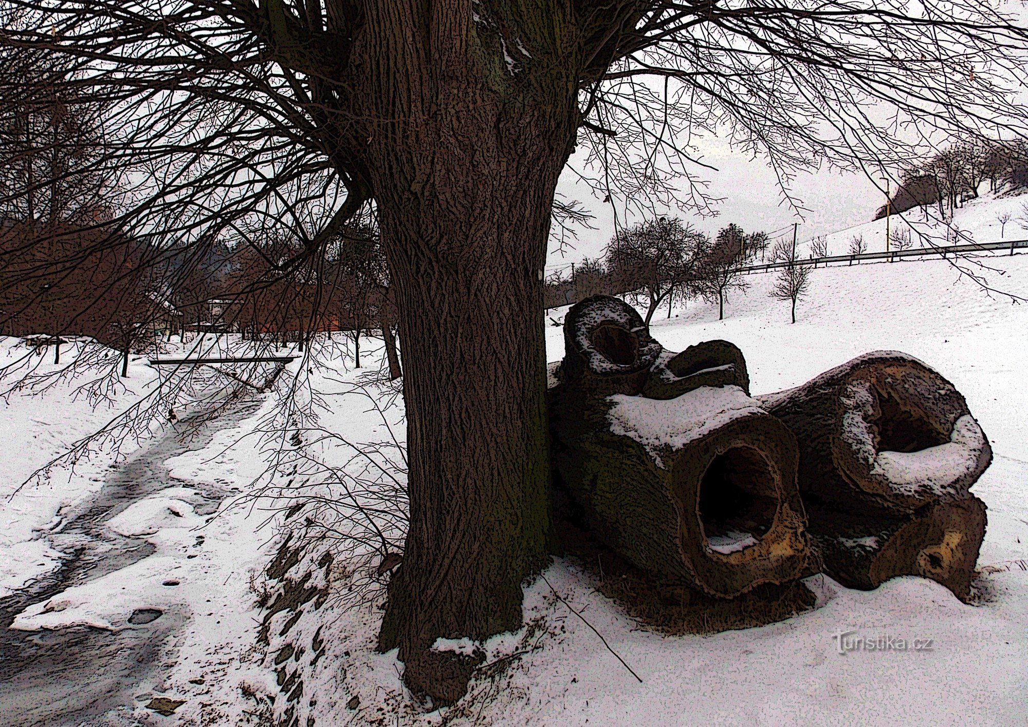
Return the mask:
{"type": "Polygon", "coordinates": [[[105,160],[126,170],[137,238],[188,245],[273,221],[301,242],[276,263],[286,274],[373,209],[404,343],[410,502],[379,646],[443,701],[470,666],[432,645],[519,628],[521,584],[549,559],[543,271],[577,147],[612,204],[702,208],[690,140],[703,133],[763,155],[786,192],[801,167],[897,167],[912,149],[890,129],[908,122],[920,139],[1024,136],[1028,33],[982,2],[0,11],[0,44],[65,60],[62,83],[113,104],[105,160]]]}

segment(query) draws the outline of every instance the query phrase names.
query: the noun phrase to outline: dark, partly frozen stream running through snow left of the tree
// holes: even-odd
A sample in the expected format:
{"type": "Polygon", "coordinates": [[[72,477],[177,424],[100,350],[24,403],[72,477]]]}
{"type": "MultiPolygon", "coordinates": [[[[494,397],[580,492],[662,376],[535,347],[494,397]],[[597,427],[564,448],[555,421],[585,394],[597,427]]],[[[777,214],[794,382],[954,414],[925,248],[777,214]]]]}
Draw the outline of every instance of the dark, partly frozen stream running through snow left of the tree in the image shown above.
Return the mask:
{"type": "MultiPolygon", "coordinates": [[[[242,405],[218,424],[230,427],[256,407],[253,403],[242,405]]],[[[59,513],[45,538],[54,549],[70,553],[69,560],[35,582],[28,592],[0,599],[0,715],[4,725],[60,727],[83,724],[83,719],[85,724],[110,724],[102,715],[132,703],[137,685],[152,676],[162,645],[189,620],[188,609],[159,609],[161,613],[147,623],[141,621],[156,611],[138,613],[130,616],[123,627],[111,629],[84,622],[89,619],[68,627],[44,626],[42,630],[8,626],[33,604],[130,569],[153,556],[157,549],[153,543],[142,534],[115,532],[112,522],[130,506],[174,487],[168,460],[203,449],[217,431],[204,427],[185,443],[169,431],[113,470],[94,499],[59,513]]],[[[181,490],[176,488],[180,497],[181,490]]],[[[193,484],[192,494],[185,498],[195,515],[205,516],[217,510],[226,494],[217,485],[193,484]]],[[[199,536],[196,545],[201,546],[203,540],[199,536]]],[[[172,578],[164,582],[177,584],[172,578]]]]}

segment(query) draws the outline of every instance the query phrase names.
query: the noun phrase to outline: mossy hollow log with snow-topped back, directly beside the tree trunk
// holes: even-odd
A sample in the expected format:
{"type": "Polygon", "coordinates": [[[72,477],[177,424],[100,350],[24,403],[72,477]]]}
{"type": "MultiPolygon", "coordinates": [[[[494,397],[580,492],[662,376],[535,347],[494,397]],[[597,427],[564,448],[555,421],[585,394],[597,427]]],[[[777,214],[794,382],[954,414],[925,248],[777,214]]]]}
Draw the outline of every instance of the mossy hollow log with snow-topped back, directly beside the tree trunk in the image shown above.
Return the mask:
{"type": "Polygon", "coordinates": [[[741,387],[693,378],[726,357],[719,375],[744,377],[738,349],[694,347],[680,367],[609,297],[568,311],[564,342],[550,391],[553,463],[593,531],[638,568],[711,596],[797,578],[809,549],[795,437],[741,387]],[[651,377],[661,398],[642,393],[651,377]]]}

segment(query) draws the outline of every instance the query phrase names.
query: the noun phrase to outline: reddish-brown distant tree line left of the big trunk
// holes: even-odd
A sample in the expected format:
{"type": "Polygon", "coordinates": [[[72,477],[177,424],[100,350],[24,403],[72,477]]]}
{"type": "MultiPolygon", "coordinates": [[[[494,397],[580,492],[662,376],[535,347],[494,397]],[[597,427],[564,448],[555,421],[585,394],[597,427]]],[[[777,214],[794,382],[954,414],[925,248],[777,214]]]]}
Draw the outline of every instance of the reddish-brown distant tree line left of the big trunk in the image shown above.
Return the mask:
{"type": "Polygon", "coordinates": [[[74,80],[52,55],[0,55],[0,334],[45,335],[56,362],[61,336],[88,337],[123,353],[124,375],[131,350],[187,329],[301,347],[311,332],[346,331],[358,366],[362,334],[381,330],[399,376],[370,215],[320,240],[317,264],[274,219],[218,238],[128,232],[116,220],[142,202],[109,153],[110,109],[74,80]]]}

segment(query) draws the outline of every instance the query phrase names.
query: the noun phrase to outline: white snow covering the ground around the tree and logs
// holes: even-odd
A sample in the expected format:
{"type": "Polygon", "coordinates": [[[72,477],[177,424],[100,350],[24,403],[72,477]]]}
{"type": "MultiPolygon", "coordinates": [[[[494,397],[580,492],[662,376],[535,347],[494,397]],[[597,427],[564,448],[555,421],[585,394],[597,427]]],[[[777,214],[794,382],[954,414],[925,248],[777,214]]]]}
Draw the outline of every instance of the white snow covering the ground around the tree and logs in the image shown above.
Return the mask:
{"type": "MultiPolygon", "coordinates": [[[[983,225],[989,216],[982,214],[983,225]]],[[[1007,237],[1011,232],[1008,226],[1007,237]]],[[[985,262],[995,269],[988,271],[994,288],[1028,297],[1028,255],[985,262]]],[[[211,522],[196,513],[194,503],[196,493],[212,484],[233,496],[246,494],[263,469],[255,437],[244,435],[269,413],[268,398],[207,447],[170,461],[175,482],[108,523],[152,542],[152,556],[29,607],[15,625],[119,629],[130,627],[137,609],[186,613],[185,625],[166,645],[160,679],[139,685],[136,703],[122,710],[144,724],[257,724],[272,709],[272,696],[281,715],[286,698],[272,661],[287,641],[317,641],[319,626],[325,651],[307,649],[302,659],[296,654],[287,661],[304,681],[293,703],[317,725],[1028,724],[1028,387],[1021,364],[1028,353],[1028,307],[986,296],[949,261],[905,261],[812,270],[810,296],[791,324],[787,304],[768,297],[773,280],[773,273],[749,276],[748,292],[731,297],[725,320],[718,320],[717,305],[690,301],[669,319],[659,312],[652,333],[671,350],[715,338],[736,343],[746,355],[755,394],[796,386],[878,349],[911,353],[953,381],[995,452],[974,490],[989,507],[980,603],[963,605],[934,582],[913,577],[862,592],[815,576],[808,583],[818,604],[807,613],[761,628],[672,638],[640,628],[594,590],[590,576],[558,560],[526,589],[529,625],[486,645],[494,658],[523,653],[473,683],[463,703],[425,713],[402,688],[395,652],[373,650],[378,600],[350,610],[331,600],[317,611],[308,606],[287,637],[278,636],[288,617],[280,614],[270,646],[255,643],[262,618],[257,594],[277,545],[274,523],[259,529],[268,515],[260,501],[241,505],[226,497],[211,522]],[[177,584],[164,585],[169,581],[177,584]],[[839,653],[842,633],[930,639],[931,650],[839,653]],[[144,704],[154,695],[184,703],[174,718],[149,716],[144,704]]],[[[552,312],[558,319],[560,313],[552,312]]],[[[559,358],[559,328],[547,328],[547,343],[549,358],[559,358]]],[[[368,355],[373,361],[377,354],[368,355]]],[[[346,389],[355,373],[337,369],[315,374],[315,387],[346,389]]],[[[134,368],[133,386],[147,381],[143,371],[134,368]]],[[[0,467],[9,473],[5,487],[109,416],[69,409],[66,398],[19,394],[5,405],[5,421],[16,422],[7,439],[15,446],[0,455],[0,467]]],[[[324,397],[320,423],[355,443],[383,438],[381,419],[359,396],[324,397]]],[[[345,453],[333,447],[310,445],[323,461],[338,462],[345,453]]],[[[0,500],[0,519],[7,523],[0,537],[8,538],[8,548],[35,542],[32,527],[52,518],[60,502],[87,496],[98,486],[86,484],[87,472],[101,477],[106,462],[88,466],[97,469],[78,470],[82,483],[79,474],[70,484],[54,477],[11,502],[0,500]]],[[[29,561],[21,563],[29,568],[29,561]]],[[[335,587],[344,589],[345,572],[345,564],[333,567],[335,587]]]]}

